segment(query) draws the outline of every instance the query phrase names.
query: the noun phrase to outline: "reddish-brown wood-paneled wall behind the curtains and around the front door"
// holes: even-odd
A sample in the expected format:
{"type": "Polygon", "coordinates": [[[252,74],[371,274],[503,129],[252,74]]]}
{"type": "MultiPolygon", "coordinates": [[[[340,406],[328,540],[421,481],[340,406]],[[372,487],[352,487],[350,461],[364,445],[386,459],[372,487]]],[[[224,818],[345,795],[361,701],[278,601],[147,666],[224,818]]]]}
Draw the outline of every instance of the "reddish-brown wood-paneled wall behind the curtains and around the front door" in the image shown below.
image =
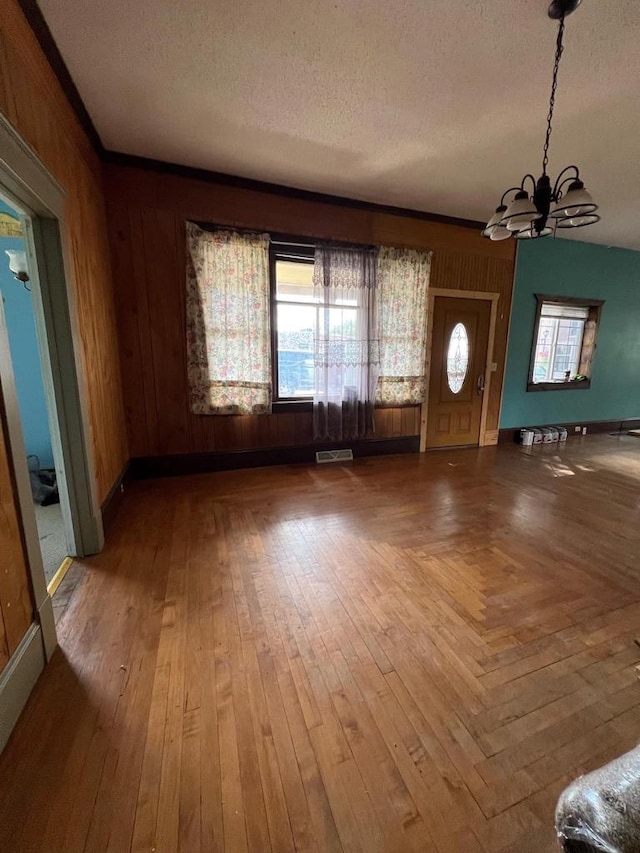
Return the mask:
{"type": "MultiPolygon", "coordinates": [[[[498,430],[515,252],[473,230],[230,187],[170,173],[105,166],[124,399],[132,456],[312,442],[311,415],[193,415],[185,355],[185,220],[355,243],[429,248],[431,285],[500,293],[487,428],[498,430]]],[[[376,436],[417,435],[419,407],[381,409],[376,436]]]]}

